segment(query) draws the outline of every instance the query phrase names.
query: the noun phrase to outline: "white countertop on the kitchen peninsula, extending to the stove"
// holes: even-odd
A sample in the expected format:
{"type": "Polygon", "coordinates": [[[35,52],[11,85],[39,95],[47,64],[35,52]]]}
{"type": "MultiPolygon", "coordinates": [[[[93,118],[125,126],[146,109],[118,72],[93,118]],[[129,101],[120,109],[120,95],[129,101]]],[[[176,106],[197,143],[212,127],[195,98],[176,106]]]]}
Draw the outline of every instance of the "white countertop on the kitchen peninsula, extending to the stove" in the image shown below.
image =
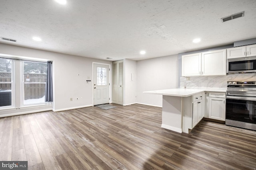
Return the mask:
{"type": "Polygon", "coordinates": [[[226,92],[223,89],[197,89],[197,88],[173,88],[165,90],[152,90],[143,92],[145,94],[160,94],[164,96],[188,97],[202,92],[226,92]]]}

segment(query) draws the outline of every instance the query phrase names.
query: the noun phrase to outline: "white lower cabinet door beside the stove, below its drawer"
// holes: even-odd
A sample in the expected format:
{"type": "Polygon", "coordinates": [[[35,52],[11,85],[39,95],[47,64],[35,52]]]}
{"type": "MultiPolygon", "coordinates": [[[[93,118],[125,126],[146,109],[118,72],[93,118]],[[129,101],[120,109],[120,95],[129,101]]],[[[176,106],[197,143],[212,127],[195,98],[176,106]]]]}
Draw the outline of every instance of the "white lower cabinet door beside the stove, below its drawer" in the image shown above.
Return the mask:
{"type": "Polygon", "coordinates": [[[209,98],[209,118],[225,121],[225,98],[209,98]]]}

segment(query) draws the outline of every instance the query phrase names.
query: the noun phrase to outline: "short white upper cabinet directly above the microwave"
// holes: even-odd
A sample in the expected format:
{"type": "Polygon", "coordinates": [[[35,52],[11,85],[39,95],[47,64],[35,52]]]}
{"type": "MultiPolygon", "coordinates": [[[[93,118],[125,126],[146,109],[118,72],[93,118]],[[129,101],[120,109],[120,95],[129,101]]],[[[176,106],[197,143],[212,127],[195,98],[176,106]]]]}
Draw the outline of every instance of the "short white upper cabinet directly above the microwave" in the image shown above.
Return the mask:
{"type": "Polygon", "coordinates": [[[256,55],[256,44],[227,49],[227,59],[256,55]]]}

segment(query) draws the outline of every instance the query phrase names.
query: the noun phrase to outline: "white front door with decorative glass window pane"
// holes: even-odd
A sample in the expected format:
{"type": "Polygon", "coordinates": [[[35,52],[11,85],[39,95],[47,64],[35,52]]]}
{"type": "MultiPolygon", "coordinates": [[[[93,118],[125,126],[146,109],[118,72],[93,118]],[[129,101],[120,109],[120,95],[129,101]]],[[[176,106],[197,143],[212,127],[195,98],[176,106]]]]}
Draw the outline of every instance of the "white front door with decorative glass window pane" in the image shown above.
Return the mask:
{"type": "Polygon", "coordinates": [[[109,65],[93,64],[93,104],[110,103],[109,98],[109,65]]]}

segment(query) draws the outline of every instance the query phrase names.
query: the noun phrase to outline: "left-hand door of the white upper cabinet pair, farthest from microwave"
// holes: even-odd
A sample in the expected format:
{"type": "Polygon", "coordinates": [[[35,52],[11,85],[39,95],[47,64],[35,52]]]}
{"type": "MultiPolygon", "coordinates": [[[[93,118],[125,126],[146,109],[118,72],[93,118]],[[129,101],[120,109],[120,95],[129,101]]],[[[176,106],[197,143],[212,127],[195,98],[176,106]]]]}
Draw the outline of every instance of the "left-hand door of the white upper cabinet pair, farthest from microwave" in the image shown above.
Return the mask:
{"type": "Polygon", "coordinates": [[[201,75],[201,53],[182,55],[182,76],[201,75]]]}

